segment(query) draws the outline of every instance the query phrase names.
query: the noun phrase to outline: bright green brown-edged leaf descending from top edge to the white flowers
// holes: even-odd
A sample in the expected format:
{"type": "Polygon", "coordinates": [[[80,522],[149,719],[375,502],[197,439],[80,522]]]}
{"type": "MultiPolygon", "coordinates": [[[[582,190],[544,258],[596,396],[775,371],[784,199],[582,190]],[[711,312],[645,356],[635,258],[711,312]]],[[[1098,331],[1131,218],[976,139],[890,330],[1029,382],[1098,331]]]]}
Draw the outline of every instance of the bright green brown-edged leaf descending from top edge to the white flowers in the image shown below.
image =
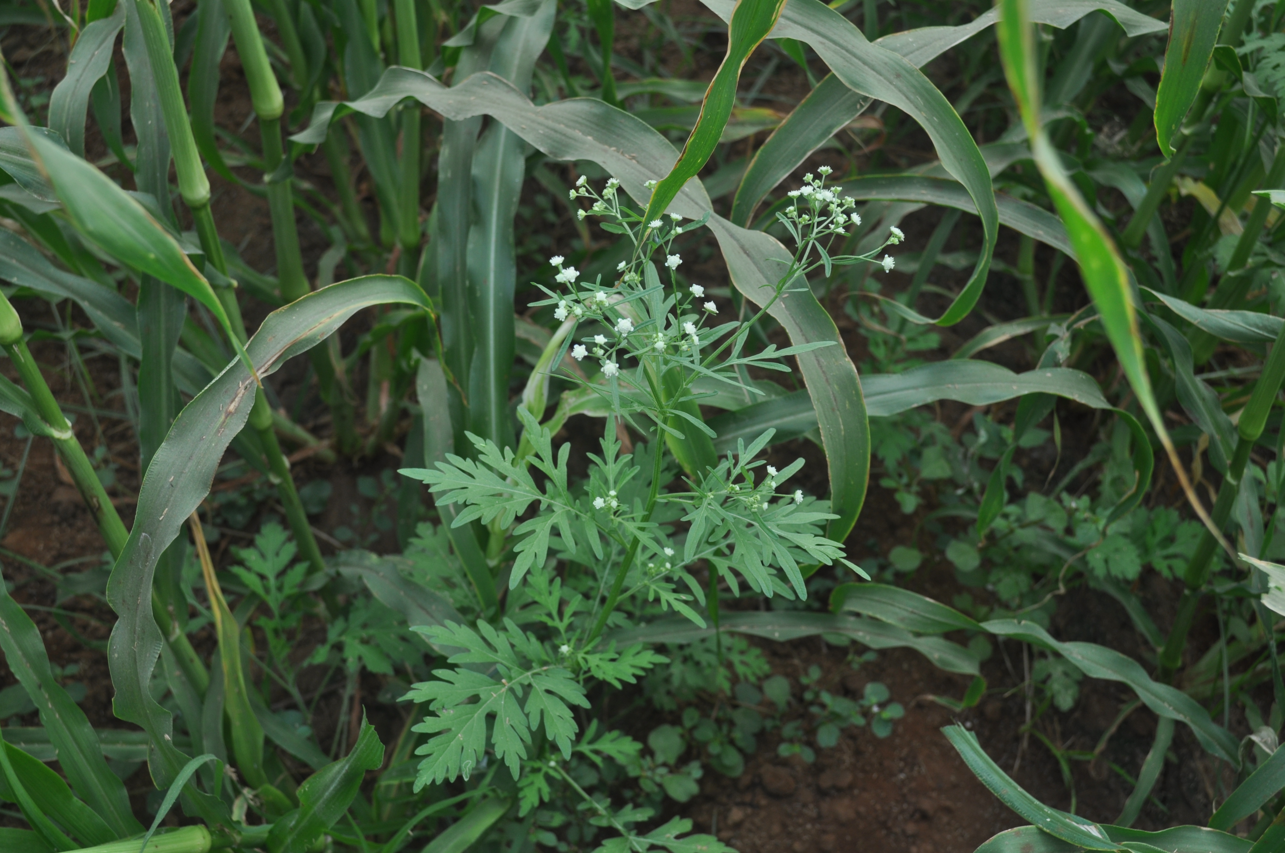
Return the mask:
{"type": "Polygon", "coordinates": [[[642,217],[644,222],[651,222],[660,217],[682,185],[695,177],[714,153],[723,127],[731,117],[732,107],[736,104],[736,84],[740,81],[740,69],[745,67],[749,55],[776,26],[784,8],[785,0],[736,0],[727,22],[727,54],[709,82],[704,101],[700,104],[700,118],[691,128],[691,135],[687,136],[682,153],[678,154],[669,173],[651,193],[646,213],[642,217]]]}

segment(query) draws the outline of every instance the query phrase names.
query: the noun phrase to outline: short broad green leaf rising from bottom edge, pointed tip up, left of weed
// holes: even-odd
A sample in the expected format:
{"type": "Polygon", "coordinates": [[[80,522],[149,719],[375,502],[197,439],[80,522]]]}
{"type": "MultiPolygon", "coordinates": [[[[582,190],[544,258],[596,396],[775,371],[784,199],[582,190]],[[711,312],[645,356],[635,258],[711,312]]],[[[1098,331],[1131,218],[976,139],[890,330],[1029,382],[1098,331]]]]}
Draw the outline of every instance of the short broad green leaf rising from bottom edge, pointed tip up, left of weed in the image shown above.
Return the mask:
{"type": "Polygon", "coordinates": [[[366,771],[384,763],[384,745],[375,727],[361,721],[361,735],[352,752],[303,780],[296,793],[299,808],[290,812],[267,835],[269,853],[306,853],[321,834],[343,817],[361,790],[366,771]]]}

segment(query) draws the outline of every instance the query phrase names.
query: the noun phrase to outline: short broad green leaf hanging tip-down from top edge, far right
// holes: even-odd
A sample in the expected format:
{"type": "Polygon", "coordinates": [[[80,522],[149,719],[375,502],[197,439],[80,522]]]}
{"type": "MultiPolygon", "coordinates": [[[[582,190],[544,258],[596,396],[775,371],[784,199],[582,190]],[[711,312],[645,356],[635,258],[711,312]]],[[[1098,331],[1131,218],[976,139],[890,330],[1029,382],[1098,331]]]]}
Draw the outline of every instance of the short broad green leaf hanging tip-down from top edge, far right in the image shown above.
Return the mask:
{"type": "Polygon", "coordinates": [[[1173,157],[1173,135],[1195,103],[1227,0],[1173,0],[1164,69],[1155,90],[1155,140],[1173,157]]]}

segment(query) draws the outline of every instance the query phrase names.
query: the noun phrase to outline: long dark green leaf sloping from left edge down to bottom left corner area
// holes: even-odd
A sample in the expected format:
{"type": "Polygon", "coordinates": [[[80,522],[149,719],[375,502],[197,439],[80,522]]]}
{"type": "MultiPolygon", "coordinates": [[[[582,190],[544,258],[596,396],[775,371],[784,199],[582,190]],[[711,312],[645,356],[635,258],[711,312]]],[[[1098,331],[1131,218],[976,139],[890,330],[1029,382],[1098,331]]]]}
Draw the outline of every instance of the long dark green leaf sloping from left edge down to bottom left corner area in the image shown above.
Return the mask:
{"type": "Polygon", "coordinates": [[[9,671],[36,703],[67,780],[112,829],[113,838],[141,831],[130,811],[125,784],[107,766],[89,718],[54,680],[40,629],[3,587],[0,583],[0,649],[9,671]]]}

